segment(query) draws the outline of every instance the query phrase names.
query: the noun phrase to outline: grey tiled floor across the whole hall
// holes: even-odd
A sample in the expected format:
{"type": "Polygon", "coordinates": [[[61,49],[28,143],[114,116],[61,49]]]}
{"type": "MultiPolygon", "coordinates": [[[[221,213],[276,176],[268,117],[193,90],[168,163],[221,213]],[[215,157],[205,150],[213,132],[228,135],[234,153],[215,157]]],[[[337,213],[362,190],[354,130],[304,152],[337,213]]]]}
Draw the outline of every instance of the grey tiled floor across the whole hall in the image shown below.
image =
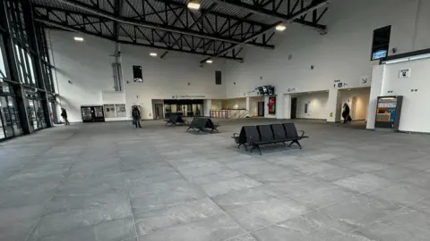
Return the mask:
{"type": "Polygon", "coordinates": [[[237,150],[145,121],[0,143],[0,240],[428,240],[430,136],[297,122],[304,149],[237,150]]]}

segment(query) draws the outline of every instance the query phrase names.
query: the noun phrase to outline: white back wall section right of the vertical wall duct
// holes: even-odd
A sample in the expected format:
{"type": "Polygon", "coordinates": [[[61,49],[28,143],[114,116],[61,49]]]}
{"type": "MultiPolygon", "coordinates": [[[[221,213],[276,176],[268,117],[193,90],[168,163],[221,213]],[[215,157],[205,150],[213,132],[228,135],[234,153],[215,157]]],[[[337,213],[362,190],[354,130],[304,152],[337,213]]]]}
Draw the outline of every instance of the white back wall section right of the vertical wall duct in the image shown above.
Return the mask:
{"type": "Polygon", "coordinates": [[[139,46],[122,46],[121,53],[126,103],[141,105],[143,119],[152,119],[151,99],[172,99],[176,95],[225,97],[225,86],[215,85],[215,71],[222,70],[223,62],[217,60],[201,68],[198,62],[202,56],[171,52],[159,59],[139,46]],[[133,65],[142,66],[143,83],[133,82],[133,65]]]}

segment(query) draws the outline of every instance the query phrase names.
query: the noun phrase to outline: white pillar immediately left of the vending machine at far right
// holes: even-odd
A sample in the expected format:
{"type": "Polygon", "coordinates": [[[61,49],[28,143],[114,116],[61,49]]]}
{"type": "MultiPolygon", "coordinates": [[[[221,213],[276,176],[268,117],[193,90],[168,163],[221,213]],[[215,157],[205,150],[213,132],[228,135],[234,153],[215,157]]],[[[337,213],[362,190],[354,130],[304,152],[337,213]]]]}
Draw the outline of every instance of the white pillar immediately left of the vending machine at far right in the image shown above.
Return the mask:
{"type": "Polygon", "coordinates": [[[376,104],[378,96],[383,96],[383,79],[385,79],[385,65],[375,65],[372,72],[372,85],[370,87],[369,106],[367,107],[366,129],[374,129],[376,118],[376,104]]]}

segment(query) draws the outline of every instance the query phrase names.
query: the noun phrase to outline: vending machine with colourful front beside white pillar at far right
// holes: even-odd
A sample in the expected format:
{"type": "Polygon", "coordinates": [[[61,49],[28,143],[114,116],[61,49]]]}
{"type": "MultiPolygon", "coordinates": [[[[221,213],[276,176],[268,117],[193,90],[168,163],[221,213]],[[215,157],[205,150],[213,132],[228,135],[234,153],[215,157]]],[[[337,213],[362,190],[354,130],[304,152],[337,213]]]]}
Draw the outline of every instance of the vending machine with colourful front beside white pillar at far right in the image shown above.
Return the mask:
{"type": "Polygon", "coordinates": [[[374,128],[399,131],[402,101],[403,96],[379,96],[374,128]]]}

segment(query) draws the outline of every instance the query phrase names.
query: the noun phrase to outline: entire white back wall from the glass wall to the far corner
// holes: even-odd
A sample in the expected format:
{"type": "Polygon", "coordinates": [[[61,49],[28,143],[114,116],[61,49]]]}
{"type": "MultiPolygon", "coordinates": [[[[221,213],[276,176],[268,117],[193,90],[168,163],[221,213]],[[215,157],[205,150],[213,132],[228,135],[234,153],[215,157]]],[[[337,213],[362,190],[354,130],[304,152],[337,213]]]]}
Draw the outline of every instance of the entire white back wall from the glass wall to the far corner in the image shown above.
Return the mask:
{"type": "MultiPolygon", "coordinates": [[[[69,120],[81,121],[81,105],[101,105],[101,91],[113,90],[109,55],[114,54],[115,46],[99,37],[84,36],[85,41],[79,43],[73,40],[74,33],[56,30],[49,33],[62,104],[69,120]],[[68,83],[69,79],[72,84],[68,83]]],[[[200,99],[226,96],[225,85],[215,85],[215,71],[222,71],[222,60],[201,68],[199,55],[170,52],[159,59],[150,57],[150,52],[142,46],[121,46],[127,116],[130,116],[130,107],[138,104],[142,119],[152,119],[152,99],[172,99],[176,95],[202,96],[195,97],[200,99]],[[133,65],[142,66],[143,83],[133,82],[133,65]]]]}

